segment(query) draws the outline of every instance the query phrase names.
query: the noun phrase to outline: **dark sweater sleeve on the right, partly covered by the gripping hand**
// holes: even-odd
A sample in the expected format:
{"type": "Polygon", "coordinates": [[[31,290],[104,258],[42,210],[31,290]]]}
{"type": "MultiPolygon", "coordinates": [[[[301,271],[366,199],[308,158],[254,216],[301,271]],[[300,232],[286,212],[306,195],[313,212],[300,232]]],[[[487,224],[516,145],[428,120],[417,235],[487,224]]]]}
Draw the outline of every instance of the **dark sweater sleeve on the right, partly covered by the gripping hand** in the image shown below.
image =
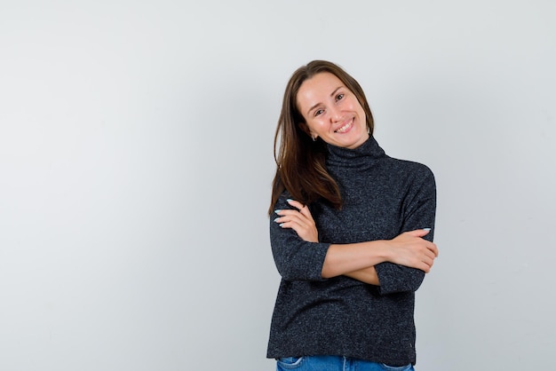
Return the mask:
{"type": "MultiPolygon", "coordinates": [[[[431,228],[424,238],[433,241],[436,214],[436,184],[433,172],[418,164],[418,176],[409,186],[403,201],[403,223],[400,233],[422,228],[431,228]]],[[[380,281],[381,294],[417,291],[425,279],[425,272],[400,264],[381,263],[375,266],[380,281]]]]}

